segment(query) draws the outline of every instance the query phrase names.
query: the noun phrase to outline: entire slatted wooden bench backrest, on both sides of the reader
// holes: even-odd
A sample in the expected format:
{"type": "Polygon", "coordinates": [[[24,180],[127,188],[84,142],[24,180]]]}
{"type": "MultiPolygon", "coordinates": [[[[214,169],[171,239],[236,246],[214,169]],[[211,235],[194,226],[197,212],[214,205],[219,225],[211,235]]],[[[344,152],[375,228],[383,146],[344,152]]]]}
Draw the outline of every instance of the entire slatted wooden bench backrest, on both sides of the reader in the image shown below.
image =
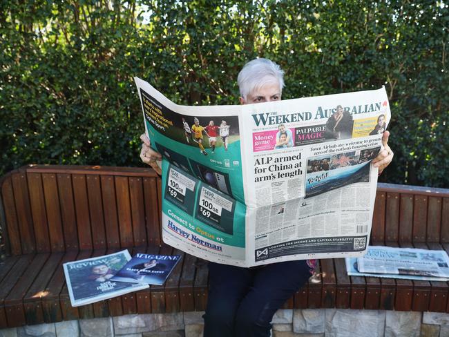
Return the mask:
{"type": "MultiPolygon", "coordinates": [[[[23,166],[0,180],[7,253],[159,245],[151,168],[23,166]]],[[[449,189],[379,184],[372,242],[449,242],[449,189]]]]}

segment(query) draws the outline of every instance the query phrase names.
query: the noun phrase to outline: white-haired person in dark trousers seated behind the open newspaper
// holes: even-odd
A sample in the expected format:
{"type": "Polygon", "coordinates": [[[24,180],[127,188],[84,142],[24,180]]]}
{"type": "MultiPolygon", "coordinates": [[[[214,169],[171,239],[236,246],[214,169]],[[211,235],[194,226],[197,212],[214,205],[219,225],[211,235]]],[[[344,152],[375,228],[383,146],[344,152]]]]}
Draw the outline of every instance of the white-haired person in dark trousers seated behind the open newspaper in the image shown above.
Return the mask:
{"type": "MultiPolygon", "coordinates": [[[[283,70],[268,59],[249,61],[238,74],[240,104],[279,101],[284,86],[283,70]]],[[[388,146],[388,131],[383,134],[383,150],[372,161],[379,172],[390,164],[393,153],[388,146]]],[[[140,157],[161,173],[160,153],[150,148],[150,139],[141,136],[140,157]]],[[[209,262],[209,296],[204,314],[204,337],[270,336],[274,313],[311,276],[313,260],[236,267],[209,262]]]]}

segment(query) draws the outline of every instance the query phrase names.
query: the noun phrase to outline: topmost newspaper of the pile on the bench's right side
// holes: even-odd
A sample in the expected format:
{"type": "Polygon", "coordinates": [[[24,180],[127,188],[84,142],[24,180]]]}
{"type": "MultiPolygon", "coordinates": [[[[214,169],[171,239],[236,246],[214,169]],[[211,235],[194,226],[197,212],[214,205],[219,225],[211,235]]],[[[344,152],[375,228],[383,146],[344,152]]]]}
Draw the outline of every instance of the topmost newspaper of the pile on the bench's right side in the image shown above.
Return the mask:
{"type": "Polygon", "coordinates": [[[449,278],[446,251],[372,246],[368,247],[365,256],[357,259],[357,263],[362,273],[449,278]]]}

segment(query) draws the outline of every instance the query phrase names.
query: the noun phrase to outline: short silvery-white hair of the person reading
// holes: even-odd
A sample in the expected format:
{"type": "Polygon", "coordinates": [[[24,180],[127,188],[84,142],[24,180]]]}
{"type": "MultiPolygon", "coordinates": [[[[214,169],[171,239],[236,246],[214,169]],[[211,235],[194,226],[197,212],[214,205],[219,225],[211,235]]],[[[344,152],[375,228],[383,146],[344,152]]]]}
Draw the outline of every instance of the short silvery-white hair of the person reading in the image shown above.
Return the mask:
{"type": "Polygon", "coordinates": [[[237,82],[240,88],[240,96],[247,99],[252,91],[261,88],[265,84],[277,81],[280,91],[284,88],[284,72],[280,66],[269,59],[253,59],[243,66],[238,73],[237,82]]]}

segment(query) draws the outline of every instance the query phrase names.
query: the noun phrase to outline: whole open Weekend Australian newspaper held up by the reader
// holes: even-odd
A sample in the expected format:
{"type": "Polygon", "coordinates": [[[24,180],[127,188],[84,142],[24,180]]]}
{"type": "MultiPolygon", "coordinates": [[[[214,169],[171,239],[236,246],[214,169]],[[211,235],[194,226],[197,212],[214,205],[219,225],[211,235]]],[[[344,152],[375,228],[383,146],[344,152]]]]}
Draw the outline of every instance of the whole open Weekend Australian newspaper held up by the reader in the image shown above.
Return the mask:
{"type": "Polygon", "coordinates": [[[390,121],[385,88],[239,106],[180,106],[135,78],[162,153],[164,242],[251,267],[361,256],[390,121]]]}

